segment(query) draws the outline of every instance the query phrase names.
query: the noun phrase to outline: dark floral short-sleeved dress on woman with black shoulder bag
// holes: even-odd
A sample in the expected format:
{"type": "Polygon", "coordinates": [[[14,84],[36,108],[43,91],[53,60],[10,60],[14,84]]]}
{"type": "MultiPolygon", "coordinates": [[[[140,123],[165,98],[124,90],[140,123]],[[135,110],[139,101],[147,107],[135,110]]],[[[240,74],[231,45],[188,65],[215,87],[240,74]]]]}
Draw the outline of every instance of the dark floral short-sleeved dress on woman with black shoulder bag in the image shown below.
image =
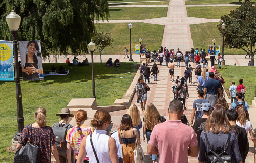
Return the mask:
{"type": "Polygon", "coordinates": [[[18,143],[26,144],[28,141],[41,148],[41,163],[51,163],[51,148],[55,144],[52,127],[35,128],[31,125],[26,125],[22,130],[18,143]]]}

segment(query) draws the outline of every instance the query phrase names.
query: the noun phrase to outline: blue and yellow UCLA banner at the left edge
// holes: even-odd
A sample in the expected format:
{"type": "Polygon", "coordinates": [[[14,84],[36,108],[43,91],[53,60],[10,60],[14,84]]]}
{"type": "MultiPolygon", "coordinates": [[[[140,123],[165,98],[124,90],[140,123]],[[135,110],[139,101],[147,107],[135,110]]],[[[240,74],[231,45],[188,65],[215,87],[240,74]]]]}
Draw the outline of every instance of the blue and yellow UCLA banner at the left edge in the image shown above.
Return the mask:
{"type": "Polygon", "coordinates": [[[14,81],[12,41],[0,41],[0,81],[14,81]]]}

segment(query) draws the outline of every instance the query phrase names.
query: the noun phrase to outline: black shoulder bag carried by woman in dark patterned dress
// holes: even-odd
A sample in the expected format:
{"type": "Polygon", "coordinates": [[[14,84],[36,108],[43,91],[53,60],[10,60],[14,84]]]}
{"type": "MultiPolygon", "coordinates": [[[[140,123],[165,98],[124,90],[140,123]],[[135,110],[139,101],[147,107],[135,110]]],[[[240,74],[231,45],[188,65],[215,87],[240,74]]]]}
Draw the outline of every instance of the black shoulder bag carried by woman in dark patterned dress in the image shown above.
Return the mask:
{"type": "MultiPolygon", "coordinates": [[[[29,125],[32,135],[32,125],[29,125]]],[[[31,138],[32,142],[27,142],[25,145],[20,148],[14,156],[13,163],[40,163],[41,162],[41,148],[36,144],[33,144],[33,137],[31,138]]],[[[36,141],[35,141],[36,142],[36,141]]]]}

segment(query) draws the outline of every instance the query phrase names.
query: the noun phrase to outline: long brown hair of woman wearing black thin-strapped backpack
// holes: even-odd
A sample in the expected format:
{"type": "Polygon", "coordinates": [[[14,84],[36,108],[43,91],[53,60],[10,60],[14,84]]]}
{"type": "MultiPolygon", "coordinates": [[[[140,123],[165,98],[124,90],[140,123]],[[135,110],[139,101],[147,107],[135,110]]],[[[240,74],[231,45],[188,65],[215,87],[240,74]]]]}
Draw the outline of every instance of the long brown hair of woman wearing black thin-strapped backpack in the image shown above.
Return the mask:
{"type": "Polygon", "coordinates": [[[219,130],[221,130],[221,133],[227,134],[232,129],[223,106],[216,106],[207,118],[205,132],[209,133],[210,129],[214,134],[219,134],[219,130]]]}

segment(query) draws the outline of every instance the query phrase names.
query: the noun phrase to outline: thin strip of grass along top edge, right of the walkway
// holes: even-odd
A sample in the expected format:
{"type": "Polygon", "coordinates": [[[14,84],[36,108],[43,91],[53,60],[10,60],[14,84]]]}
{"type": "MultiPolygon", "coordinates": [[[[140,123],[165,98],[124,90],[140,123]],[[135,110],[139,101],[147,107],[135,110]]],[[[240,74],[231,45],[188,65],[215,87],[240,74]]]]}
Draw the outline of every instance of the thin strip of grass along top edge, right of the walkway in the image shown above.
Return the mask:
{"type": "MultiPolygon", "coordinates": [[[[243,0],[241,1],[243,2],[243,0]]],[[[254,4],[255,2],[251,2],[254,4]]],[[[202,4],[239,4],[238,0],[186,0],[186,5],[202,5],[202,4]]]]}

